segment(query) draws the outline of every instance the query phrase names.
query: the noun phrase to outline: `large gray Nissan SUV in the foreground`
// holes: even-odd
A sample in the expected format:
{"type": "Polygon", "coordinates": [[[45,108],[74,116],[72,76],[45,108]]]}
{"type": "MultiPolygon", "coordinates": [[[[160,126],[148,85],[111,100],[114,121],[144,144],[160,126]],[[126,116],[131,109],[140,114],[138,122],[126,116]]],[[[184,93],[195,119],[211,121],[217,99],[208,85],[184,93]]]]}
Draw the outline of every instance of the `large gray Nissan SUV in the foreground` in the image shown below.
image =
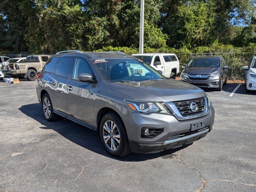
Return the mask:
{"type": "Polygon", "coordinates": [[[167,79],[142,60],[114,52],[59,53],[38,75],[44,117],[58,115],[92,130],[113,156],[190,144],[214,124],[206,93],[167,79]]]}

